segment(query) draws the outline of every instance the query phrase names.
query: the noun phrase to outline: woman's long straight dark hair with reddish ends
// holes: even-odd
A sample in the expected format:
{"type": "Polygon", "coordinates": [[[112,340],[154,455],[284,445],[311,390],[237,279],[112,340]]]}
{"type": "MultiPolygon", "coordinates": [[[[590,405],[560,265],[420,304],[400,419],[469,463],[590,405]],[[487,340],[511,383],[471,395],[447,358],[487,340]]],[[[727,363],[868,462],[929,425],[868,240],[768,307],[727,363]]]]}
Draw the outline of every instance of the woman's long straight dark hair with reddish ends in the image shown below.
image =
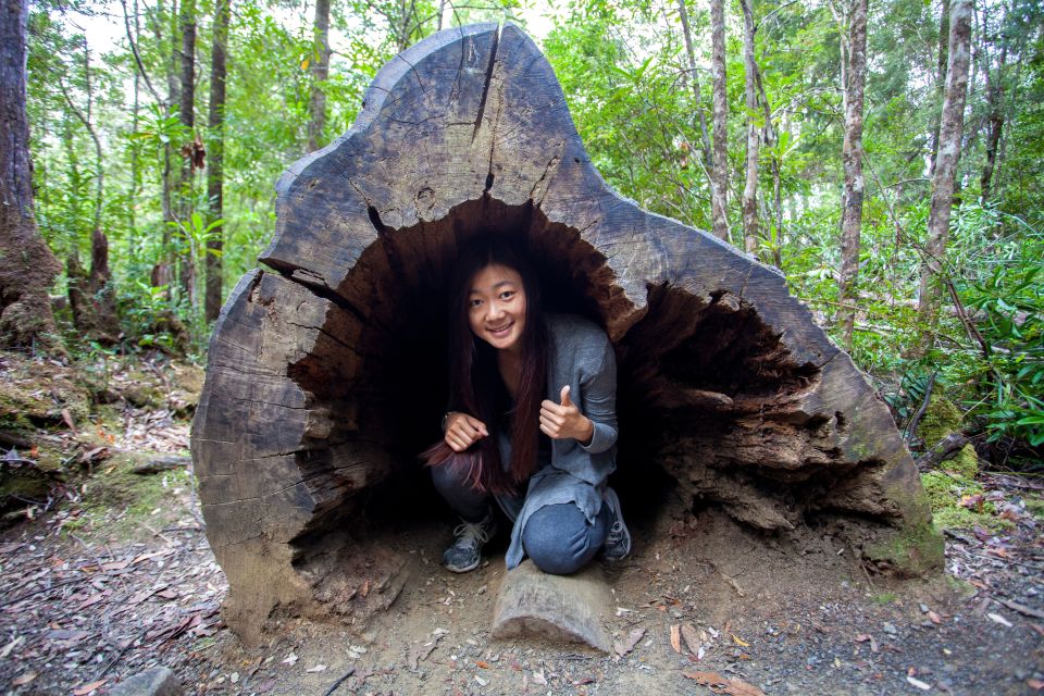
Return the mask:
{"type": "Polygon", "coordinates": [[[512,493],[533,473],[539,447],[540,401],[547,391],[548,335],[540,302],[540,288],[526,254],[496,237],[485,237],[461,250],[449,286],[450,405],[486,424],[488,437],[480,438],[464,452],[455,452],[440,440],[421,455],[428,465],[453,465],[465,470],[472,487],[490,493],[512,493]],[[525,327],[522,332],[522,373],[511,409],[511,461],[500,461],[496,427],[497,394],[501,377],[497,351],[475,336],[469,323],[468,300],[475,275],[490,265],[513,269],[525,290],[525,327]]]}

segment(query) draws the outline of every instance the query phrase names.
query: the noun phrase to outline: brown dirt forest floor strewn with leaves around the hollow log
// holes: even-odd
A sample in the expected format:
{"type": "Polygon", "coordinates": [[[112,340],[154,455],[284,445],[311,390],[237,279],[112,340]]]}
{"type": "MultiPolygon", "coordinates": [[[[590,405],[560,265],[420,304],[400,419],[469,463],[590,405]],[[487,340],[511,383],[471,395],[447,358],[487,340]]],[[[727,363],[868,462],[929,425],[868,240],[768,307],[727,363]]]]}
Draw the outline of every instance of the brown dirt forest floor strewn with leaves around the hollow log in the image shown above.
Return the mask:
{"type": "Polygon", "coordinates": [[[101,695],[154,664],[196,694],[319,695],[345,675],[333,693],[1044,688],[1044,486],[998,473],[978,480],[1008,529],[948,533],[931,580],[868,573],[833,522],[766,537],[676,499],[629,515],[635,551],[606,571],[612,656],[492,639],[505,539],[478,570],[449,573],[452,522],[432,506],[387,530],[409,559],[388,611],[353,626],[287,619],[247,649],[221,620],[227,587],[184,458],[199,377],[164,359],[74,369],[0,355],[0,437],[15,448],[2,462],[0,688],[101,695]]]}

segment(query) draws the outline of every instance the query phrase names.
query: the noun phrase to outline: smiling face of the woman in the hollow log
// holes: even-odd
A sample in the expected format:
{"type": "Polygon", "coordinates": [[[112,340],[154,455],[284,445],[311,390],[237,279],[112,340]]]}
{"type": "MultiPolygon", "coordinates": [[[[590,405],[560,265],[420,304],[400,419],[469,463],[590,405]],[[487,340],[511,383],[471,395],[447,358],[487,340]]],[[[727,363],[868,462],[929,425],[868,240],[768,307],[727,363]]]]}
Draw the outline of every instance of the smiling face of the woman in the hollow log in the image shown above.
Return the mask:
{"type": "Polygon", "coordinates": [[[487,265],[471,279],[468,323],[475,336],[498,350],[521,350],[525,331],[522,276],[505,265],[487,265]]]}

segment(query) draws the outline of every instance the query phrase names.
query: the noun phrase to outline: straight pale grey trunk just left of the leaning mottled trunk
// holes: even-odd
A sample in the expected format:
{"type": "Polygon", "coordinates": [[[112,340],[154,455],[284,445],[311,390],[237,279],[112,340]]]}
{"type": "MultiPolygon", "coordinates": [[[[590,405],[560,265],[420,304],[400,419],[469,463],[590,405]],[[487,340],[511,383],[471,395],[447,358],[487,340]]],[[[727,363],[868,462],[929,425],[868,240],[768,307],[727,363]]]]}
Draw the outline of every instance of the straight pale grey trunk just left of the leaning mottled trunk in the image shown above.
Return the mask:
{"type": "Polygon", "coordinates": [[[848,82],[845,85],[845,140],[842,162],[845,189],[841,222],[841,287],[837,322],[845,346],[852,346],[856,315],[856,278],[859,275],[859,232],[862,225],[862,102],[867,76],[867,0],[853,0],[848,17],[848,82]]]}

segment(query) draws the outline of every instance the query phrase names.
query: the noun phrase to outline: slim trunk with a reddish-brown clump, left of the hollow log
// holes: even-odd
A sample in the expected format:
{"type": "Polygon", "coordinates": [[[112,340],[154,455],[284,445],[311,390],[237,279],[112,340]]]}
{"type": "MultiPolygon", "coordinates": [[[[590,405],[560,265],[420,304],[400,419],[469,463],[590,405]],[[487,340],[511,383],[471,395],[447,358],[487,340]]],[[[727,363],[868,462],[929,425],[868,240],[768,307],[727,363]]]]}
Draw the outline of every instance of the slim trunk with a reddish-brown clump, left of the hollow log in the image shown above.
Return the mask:
{"type": "Polygon", "coordinates": [[[177,222],[182,228],[182,234],[186,237],[186,244],[183,246],[179,260],[178,285],[181,286],[182,297],[187,298],[189,304],[194,304],[192,286],[196,275],[196,259],[195,244],[189,234],[189,225],[192,214],[192,178],[196,169],[197,147],[197,141],[194,139],[196,128],[196,0],[182,0],[178,24],[182,30],[182,79],[178,117],[189,137],[189,141],[182,147],[182,167],[177,182],[177,222]]]}

